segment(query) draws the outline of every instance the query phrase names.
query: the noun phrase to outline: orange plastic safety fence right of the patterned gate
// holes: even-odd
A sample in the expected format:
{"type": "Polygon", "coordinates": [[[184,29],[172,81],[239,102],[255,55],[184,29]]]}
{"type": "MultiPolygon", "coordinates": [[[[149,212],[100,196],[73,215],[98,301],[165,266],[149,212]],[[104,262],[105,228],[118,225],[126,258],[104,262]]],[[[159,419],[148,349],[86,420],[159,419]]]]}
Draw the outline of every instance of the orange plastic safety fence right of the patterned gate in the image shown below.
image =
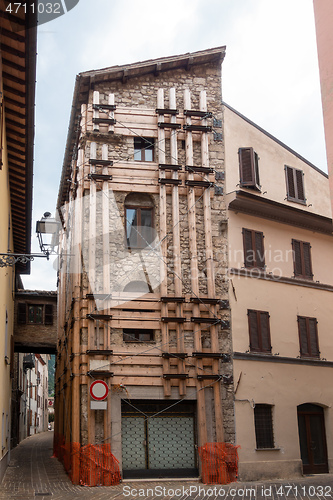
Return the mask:
{"type": "Polygon", "coordinates": [[[206,443],[200,446],[202,482],[228,484],[237,481],[238,448],[230,443],[206,443]]]}

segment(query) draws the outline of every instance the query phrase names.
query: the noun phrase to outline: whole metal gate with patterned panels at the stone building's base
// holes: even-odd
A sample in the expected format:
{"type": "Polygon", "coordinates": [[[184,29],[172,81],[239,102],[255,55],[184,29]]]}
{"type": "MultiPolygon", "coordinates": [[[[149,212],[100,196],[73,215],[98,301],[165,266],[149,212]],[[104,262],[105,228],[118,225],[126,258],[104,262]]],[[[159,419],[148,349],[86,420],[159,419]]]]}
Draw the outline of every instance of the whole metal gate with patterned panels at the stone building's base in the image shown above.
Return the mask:
{"type": "Polygon", "coordinates": [[[179,403],[122,405],[123,477],[195,477],[194,405],[179,403]]]}

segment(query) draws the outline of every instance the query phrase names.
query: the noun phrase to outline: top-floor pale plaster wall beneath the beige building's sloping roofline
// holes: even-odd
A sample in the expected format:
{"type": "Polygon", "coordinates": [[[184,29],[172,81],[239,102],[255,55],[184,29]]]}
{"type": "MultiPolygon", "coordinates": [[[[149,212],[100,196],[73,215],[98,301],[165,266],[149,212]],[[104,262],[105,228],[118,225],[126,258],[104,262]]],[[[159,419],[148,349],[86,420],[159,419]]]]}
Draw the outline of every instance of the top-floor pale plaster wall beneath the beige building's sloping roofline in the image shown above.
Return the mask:
{"type": "Polygon", "coordinates": [[[331,217],[327,177],[225,106],[224,139],[226,193],[240,189],[237,186],[239,184],[238,149],[253,147],[259,156],[261,193],[250,190],[252,193],[294,208],[331,217]],[[285,199],[287,195],[285,165],[303,170],[306,205],[285,199]]]}

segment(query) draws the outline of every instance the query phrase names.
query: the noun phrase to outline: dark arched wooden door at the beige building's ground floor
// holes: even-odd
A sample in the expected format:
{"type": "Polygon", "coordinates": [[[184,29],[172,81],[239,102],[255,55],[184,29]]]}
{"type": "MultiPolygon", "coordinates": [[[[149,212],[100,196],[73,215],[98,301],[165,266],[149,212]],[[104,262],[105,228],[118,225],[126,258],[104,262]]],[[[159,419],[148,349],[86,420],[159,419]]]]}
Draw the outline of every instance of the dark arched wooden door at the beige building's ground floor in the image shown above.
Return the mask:
{"type": "Polygon", "coordinates": [[[328,472],[324,409],[314,404],[297,407],[298,434],[304,474],[328,472]]]}

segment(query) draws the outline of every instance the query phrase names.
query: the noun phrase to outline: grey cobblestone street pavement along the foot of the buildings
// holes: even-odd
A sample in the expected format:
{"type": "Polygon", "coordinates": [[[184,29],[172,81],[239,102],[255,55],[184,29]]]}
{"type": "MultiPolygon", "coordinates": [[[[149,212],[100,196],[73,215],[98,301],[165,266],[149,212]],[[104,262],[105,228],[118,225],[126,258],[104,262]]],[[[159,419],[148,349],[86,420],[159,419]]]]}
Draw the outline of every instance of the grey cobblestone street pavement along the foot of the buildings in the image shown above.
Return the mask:
{"type": "Polygon", "coordinates": [[[307,476],[293,481],[265,481],[203,485],[190,481],[126,481],[118,486],[74,486],[63,466],[52,458],[53,432],[22,441],[11,452],[11,461],[0,485],[6,500],[333,500],[333,475],[307,476]]]}

